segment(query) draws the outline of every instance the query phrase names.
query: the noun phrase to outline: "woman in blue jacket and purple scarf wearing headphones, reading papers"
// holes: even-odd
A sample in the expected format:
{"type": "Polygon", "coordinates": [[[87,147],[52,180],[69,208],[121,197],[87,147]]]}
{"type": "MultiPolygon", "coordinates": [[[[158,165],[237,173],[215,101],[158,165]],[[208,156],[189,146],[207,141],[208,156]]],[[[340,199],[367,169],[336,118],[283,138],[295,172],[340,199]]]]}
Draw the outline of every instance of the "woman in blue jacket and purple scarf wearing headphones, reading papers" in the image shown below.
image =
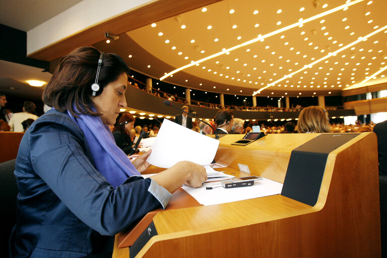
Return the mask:
{"type": "Polygon", "coordinates": [[[150,152],[131,163],[117,147],[107,125],[126,107],[128,72],[118,55],[93,47],[61,58],[43,93],[52,109],[20,143],[12,257],[111,257],[115,234],[165,208],[183,183],[198,187],[207,179],[205,168],[189,161],[144,179],[150,152]]]}

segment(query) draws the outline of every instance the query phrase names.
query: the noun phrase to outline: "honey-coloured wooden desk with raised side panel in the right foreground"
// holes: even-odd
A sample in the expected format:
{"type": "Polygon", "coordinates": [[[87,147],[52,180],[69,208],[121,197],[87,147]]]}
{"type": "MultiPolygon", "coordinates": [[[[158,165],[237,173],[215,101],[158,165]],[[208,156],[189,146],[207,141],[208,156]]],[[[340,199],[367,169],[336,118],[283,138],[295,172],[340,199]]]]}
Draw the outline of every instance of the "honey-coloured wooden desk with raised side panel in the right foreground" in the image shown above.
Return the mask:
{"type": "MultiPolygon", "coordinates": [[[[159,211],[157,235],[136,257],[380,257],[376,136],[353,135],[329,153],[314,206],[275,195],[159,211]]],[[[240,135],[227,135],[215,160],[227,173],[238,176],[239,163],[283,183],[292,150],[317,136],[272,134],[234,146],[240,135]]],[[[125,234],[116,236],[113,257],[129,257],[130,248],[119,247],[125,234]]]]}

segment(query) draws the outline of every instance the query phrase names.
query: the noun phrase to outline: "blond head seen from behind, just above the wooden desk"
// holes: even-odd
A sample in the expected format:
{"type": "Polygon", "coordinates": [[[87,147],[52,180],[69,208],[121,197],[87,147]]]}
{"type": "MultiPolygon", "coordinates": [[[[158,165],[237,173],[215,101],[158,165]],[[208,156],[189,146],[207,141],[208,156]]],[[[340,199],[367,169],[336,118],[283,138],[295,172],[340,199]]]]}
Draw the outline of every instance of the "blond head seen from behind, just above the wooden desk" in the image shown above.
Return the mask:
{"type": "Polygon", "coordinates": [[[301,110],[297,122],[298,133],[331,133],[328,112],[319,106],[301,110]]]}

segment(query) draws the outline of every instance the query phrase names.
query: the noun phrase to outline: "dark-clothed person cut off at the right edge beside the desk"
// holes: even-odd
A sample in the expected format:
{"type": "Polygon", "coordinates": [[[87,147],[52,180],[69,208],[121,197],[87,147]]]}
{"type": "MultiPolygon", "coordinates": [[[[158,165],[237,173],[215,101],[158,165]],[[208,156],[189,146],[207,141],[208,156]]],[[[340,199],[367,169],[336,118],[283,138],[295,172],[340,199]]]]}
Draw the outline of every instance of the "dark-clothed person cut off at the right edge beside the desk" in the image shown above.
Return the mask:
{"type": "Polygon", "coordinates": [[[387,120],[373,127],[377,136],[377,152],[379,156],[379,175],[387,175],[387,120]]]}

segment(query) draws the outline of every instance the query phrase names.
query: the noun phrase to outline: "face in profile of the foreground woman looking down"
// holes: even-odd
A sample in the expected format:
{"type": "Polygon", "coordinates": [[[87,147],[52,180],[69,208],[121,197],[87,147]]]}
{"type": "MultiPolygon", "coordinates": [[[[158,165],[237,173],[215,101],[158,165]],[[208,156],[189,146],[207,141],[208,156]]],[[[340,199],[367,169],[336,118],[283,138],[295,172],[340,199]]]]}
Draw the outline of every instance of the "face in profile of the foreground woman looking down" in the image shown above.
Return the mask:
{"type": "Polygon", "coordinates": [[[119,109],[126,107],[125,91],[127,88],[127,76],[122,73],[117,80],[109,83],[102,93],[92,101],[104,124],[114,124],[119,115],[119,109]]]}

